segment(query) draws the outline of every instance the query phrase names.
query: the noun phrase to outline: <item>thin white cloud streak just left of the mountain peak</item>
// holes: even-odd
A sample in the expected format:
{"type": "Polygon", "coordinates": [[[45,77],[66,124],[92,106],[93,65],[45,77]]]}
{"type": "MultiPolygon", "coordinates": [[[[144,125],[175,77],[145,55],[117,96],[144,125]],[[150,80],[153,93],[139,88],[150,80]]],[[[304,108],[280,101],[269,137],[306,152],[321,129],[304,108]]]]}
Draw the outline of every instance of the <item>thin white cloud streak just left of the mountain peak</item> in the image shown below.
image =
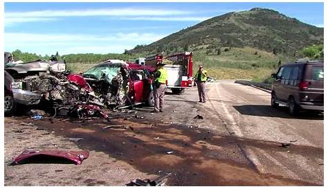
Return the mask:
{"type": "Polygon", "coordinates": [[[120,17],[122,20],[146,21],[205,21],[211,17],[120,17]]]}

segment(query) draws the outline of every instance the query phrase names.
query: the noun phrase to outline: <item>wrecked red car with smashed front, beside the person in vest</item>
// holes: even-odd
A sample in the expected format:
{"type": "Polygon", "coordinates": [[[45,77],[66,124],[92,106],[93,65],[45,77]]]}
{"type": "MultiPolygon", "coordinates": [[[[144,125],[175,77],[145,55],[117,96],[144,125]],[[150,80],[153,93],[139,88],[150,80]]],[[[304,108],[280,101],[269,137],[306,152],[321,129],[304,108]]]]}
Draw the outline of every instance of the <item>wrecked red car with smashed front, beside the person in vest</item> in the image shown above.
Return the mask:
{"type": "Polygon", "coordinates": [[[120,108],[145,103],[154,106],[152,68],[120,60],[107,60],[82,74],[107,106],[120,108]]]}

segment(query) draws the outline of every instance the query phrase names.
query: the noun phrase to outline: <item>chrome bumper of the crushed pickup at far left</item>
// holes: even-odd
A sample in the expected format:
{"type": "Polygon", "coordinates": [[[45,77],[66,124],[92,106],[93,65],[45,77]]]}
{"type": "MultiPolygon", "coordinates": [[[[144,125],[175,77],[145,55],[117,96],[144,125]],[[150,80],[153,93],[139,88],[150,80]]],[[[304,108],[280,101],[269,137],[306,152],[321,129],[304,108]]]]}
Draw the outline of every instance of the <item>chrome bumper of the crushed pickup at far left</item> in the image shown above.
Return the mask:
{"type": "Polygon", "coordinates": [[[17,88],[12,89],[12,94],[14,94],[14,100],[17,103],[24,105],[35,105],[40,102],[41,94],[35,92],[30,92],[28,90],[21,90],[17,88]]]}

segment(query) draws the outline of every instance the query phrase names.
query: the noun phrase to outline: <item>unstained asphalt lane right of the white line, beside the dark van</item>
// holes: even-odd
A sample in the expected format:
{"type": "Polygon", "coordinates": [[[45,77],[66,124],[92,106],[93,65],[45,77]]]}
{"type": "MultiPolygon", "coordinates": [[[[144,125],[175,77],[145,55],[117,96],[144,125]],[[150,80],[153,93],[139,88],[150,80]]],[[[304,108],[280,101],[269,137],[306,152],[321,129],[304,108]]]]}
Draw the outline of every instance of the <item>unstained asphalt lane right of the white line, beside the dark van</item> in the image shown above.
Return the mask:
{"type": "Polygon", "coordinates": [[[206,111],[216,112],[230,133],[243,141],[261,141],[242,144],[259,172],[323,184],[323,115],[291,117],[285,107],[271,108],[270,93],[234,81],[211,83],[208,97],[206,111]],[[291,146],[276,151],[271,143],[291,146]]]}

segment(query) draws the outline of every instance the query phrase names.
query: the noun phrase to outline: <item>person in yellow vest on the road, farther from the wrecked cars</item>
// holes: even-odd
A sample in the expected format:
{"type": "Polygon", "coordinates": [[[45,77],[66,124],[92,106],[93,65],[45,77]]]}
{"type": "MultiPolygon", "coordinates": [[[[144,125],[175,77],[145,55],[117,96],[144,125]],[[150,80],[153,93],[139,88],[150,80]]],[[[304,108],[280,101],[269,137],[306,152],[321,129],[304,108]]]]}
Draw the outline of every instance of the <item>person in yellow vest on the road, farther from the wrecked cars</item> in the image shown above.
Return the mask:
{"type": "Polygon", "coordinates": [[[206,102],[206,80],[208,79],[208,72],[203,69],[203,66],[199,66],[199,70],[194,75],[197,83],[199,102],[206,102]]]}

